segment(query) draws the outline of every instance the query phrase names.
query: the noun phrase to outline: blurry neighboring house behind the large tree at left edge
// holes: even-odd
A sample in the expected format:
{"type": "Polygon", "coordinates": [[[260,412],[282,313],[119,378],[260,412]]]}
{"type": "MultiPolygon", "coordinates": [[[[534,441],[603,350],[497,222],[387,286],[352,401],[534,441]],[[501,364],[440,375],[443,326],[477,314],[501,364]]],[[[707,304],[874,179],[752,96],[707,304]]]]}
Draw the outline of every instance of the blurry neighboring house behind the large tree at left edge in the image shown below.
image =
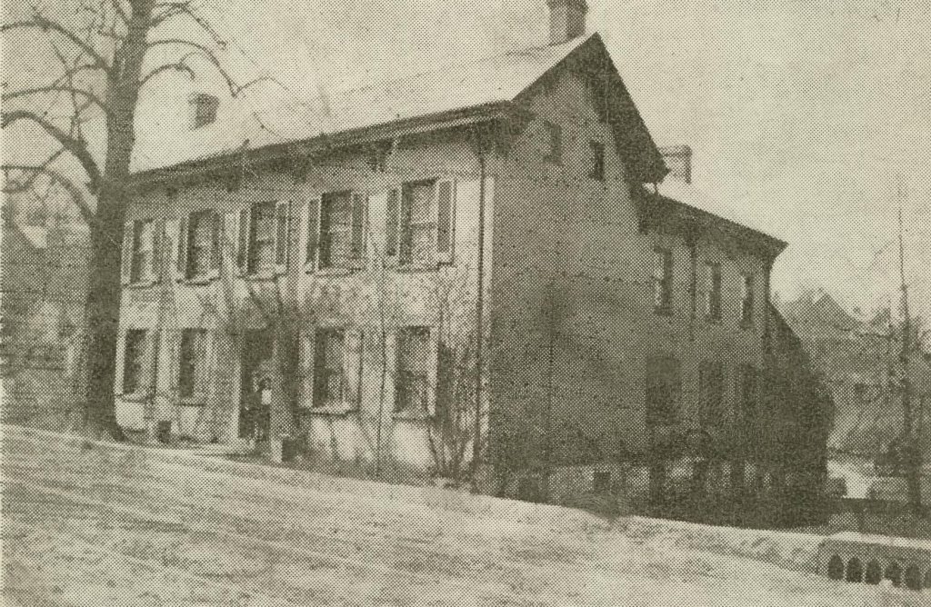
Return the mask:
{"type": "MultiPolygon", "coordinates": [[[[88,226],[53,185],[5,199],[0,272],[4,421],[61,429],[74,409],[88,226]]],[[[73,421],[73,420],[72,420],[73,421]]]]}

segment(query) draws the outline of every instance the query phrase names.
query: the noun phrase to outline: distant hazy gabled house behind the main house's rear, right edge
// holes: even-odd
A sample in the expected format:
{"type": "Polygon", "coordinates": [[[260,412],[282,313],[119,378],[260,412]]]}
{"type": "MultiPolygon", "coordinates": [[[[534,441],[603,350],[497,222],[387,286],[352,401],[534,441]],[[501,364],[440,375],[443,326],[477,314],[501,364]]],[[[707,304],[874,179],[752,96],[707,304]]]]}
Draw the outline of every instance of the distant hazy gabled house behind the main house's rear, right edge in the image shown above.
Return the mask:
{"type": "MultiPolygon", "coordinates": [[[[819,289],[786,303],[783,312],[830,385],[835,405],[830,447],[886,452],[904,427],[897,321],[890,320],[888,310],[868,319],[854,317],[819,289]]],[[[909,373],[915,430],[931,453],[931,366],[921,353],[912,353],[909,373]]]]}

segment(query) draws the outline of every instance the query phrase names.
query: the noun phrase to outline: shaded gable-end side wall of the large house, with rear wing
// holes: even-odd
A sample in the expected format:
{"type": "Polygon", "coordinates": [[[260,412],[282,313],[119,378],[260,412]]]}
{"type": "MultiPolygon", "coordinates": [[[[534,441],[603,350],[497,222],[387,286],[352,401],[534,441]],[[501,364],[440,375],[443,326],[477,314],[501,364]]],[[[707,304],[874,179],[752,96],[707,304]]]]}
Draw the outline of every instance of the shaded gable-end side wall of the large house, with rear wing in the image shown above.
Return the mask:
{"type": "Polygon", "coordinates": [[[731,421],[739,366],[762,367],[767,299],[762,260],[702,236],[699,273],[706,261],[722,264],[722,320],[705,319],[700,274],[693,319],[690,249],[679,236],[641,233],[612,131],[584,80],[563,71],[525,105],[535,117],[498,169],[494,217],[491,439],[509,477],[503,492],[540,472],[547,450],[554,467],[645,452],[654,432],[644,405],[650,357],[681,362],[680,429],[697,424],[699,364],[722,362],[731,421]],[[545,121],[560,127],[560,162],[546,158],[545,121]],[[590,142],[604,146],[603,182],[588,176],[590,142]],[[670,316],[654,313],[658,246],[674,258],[670,316]],[[738,322],[741,273],[757,275],[749,329],[738,322]]]}

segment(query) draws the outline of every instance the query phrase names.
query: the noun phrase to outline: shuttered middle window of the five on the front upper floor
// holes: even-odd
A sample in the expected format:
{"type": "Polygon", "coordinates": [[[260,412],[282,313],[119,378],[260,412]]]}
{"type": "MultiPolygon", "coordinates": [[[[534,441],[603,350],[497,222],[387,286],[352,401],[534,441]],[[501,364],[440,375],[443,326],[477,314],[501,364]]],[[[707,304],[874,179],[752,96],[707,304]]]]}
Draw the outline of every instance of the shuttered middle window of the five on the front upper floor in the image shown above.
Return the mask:
{"type": "Polygon", "coordinates": [[[236,264],[240,274],[282,274],[288,266],[290,206],[260,202],[239,211],[236,264]]]}

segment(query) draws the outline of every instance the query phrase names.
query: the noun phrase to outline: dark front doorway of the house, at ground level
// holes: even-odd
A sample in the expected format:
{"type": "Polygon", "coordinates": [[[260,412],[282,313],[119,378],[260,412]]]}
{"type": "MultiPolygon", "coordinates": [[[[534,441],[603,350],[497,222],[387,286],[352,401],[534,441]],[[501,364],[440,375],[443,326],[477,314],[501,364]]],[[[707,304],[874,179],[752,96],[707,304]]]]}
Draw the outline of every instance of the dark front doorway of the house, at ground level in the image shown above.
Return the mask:
{"type": "Polygon", "coordinates": [[[246,332],[240,378],[239,437],[268,439],[275,382],[274,347],[270,330],[246,332]]]}

